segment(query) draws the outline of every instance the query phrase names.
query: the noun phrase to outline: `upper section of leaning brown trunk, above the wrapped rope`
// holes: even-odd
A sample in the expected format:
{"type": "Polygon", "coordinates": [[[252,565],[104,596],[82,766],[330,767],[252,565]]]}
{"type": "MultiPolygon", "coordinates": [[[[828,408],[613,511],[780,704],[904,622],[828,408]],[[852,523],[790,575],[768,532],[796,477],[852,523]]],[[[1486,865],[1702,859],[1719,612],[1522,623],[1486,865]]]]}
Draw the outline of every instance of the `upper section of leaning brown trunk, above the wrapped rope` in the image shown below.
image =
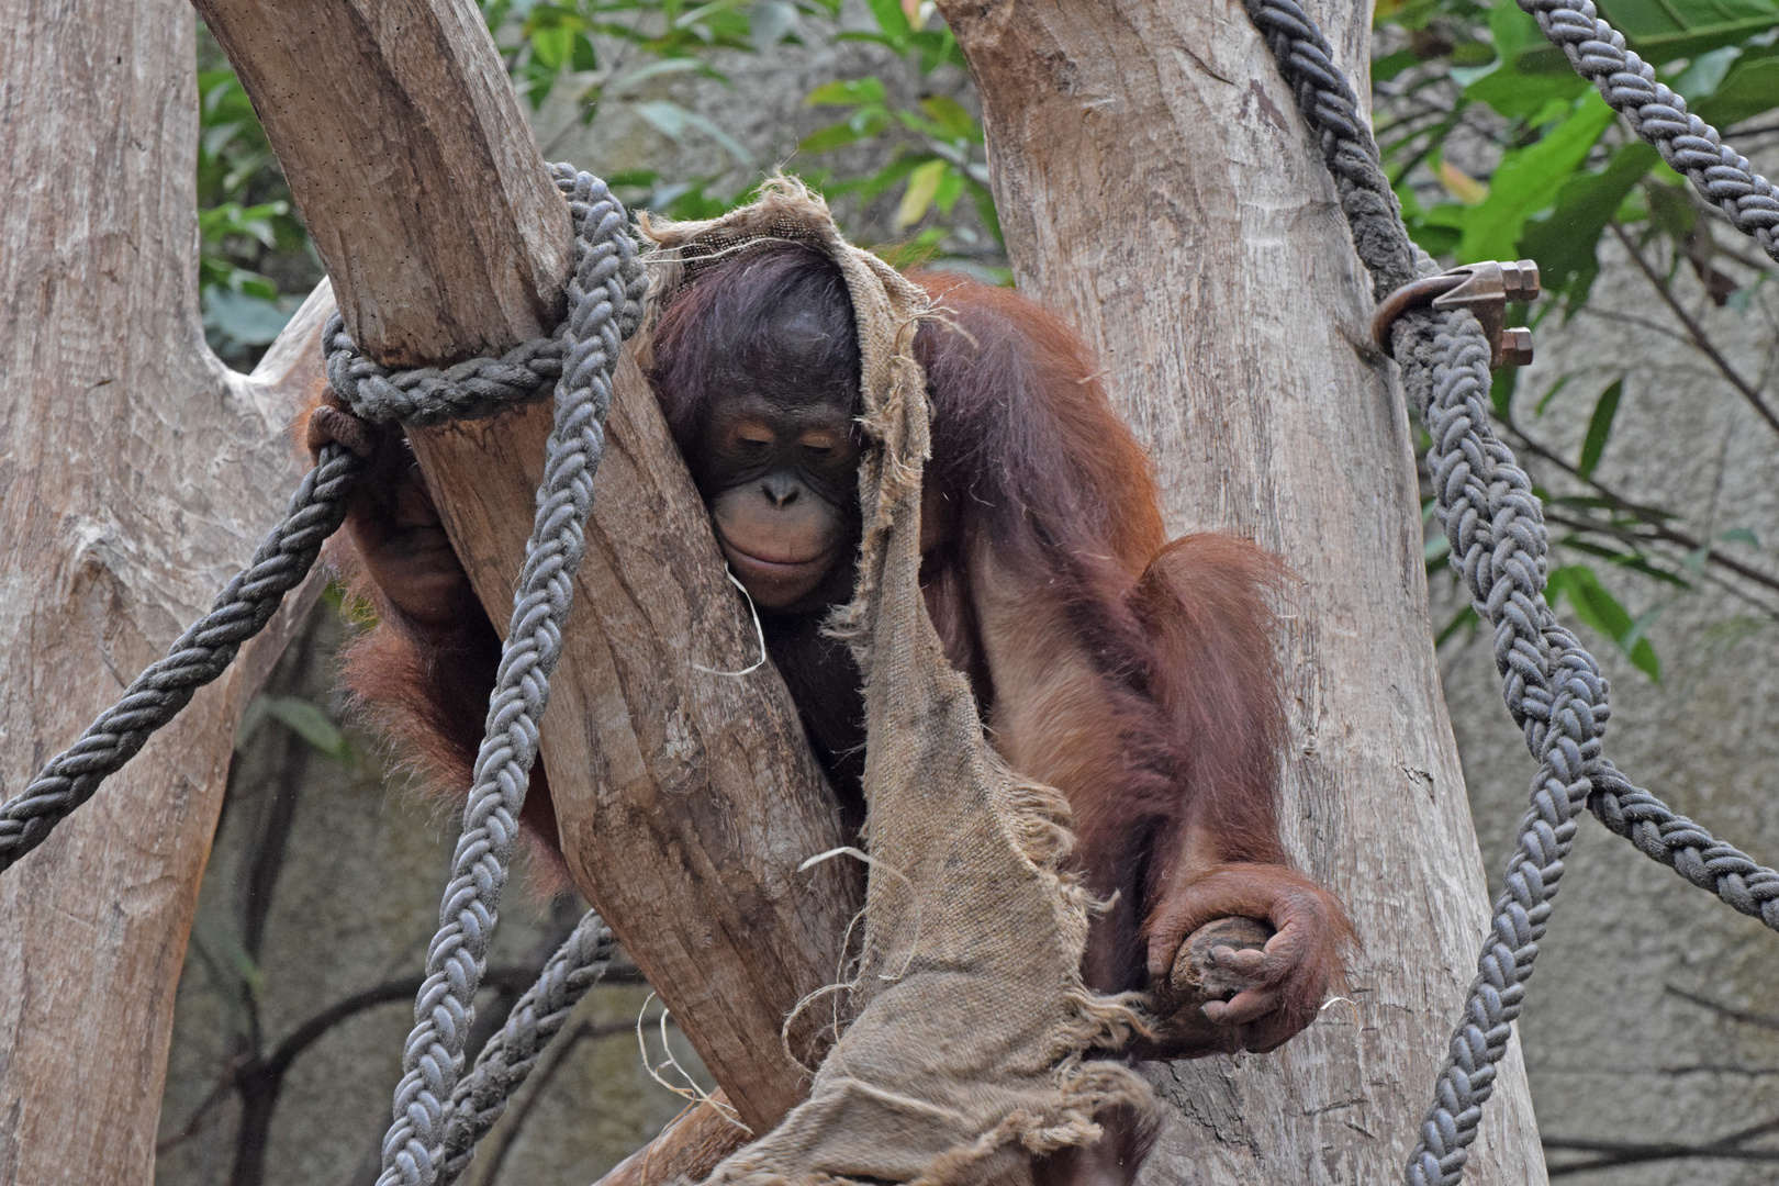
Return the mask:
{"type": "Polygon", "coordinates": [[[352,340],[418,366],[560,320],[568,203],[473,0],[197,0],[352,340]]]}

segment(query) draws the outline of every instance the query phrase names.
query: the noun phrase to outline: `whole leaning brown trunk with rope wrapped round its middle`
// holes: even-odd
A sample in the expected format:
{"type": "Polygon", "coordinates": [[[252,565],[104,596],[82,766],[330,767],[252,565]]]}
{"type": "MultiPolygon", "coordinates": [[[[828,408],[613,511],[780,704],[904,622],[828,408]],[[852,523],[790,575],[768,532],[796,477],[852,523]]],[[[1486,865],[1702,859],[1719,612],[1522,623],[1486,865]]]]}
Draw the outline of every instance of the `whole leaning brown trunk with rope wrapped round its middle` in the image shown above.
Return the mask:
{"type": "MultiPolygon", "coordinates": [[[[197,0],[347,309],[384,363],[452,361],[560,308],[568,206],[468,0],[197,0]],[[521,283],[523,281],[523,283],[521,283]],[[527,297],[528,292],[543,297],[527,297]]],[[[503,629],[548,407],[415,432],[503,629]]],[[[635,365],[619,372],[575,615],[543,725],[575,880],[742,1118],[801,1097],[785,1015],[838,967],[857,871],[820,768],[635,365]]]]}

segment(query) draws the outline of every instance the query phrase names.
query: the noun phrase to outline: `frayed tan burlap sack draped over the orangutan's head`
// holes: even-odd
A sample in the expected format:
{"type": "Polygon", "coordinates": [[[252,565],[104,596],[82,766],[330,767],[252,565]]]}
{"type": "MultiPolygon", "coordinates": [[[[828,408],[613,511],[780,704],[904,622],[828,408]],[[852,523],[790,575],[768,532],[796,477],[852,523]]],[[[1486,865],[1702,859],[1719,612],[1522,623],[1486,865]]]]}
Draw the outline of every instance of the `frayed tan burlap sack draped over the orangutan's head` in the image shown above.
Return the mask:
{"type": "Polygon", "coordinates": [[[651,267],[656,308],[696,283],[701,256],[726,258],[749,240],[827,252],[845,274],[863,354],[865,541],[854,601],[836,617],[865,672],[870,729],[865,937],[843,987],[852,1021],[809,1099],[706,1182],[1026,1182],[1028,1154],[1089,1143],[1098,1113],[1151,1099],[1130,1069],[1083,1058],[1121,1046],[1135,1017],[1082,983],[1091,902],[1059,873],[1073,841],[1067,800],[989,749],[970,685],[927,619],[918,576],[930,413],[913,357],[927,297],[847,244],[827,204],[786,178],[722,219],[646,220],[644,233],[664,252],[651,267]]]}

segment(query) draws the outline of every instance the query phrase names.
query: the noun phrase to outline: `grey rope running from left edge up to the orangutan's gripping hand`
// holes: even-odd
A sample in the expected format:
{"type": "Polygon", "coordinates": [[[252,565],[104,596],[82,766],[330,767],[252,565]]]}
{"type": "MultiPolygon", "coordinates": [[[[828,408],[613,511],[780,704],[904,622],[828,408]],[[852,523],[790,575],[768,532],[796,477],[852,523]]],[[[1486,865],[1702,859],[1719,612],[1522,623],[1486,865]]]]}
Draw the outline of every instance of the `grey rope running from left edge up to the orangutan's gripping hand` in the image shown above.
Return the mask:
{"type": "Polygon", "coordinates": [[[267,533],[247,569],[222,587],[210,612],[178,637],[164,660],[137,676],[78,741],[52,757],[16,798],[0,804],[0,873],[48,839],[199,688],[228,670],[240,645],[272,621],[285,594],[315,567],[322,542],[345,519],[363,471],[361,457],[340,445],[326,446],[290,496],[283,521],[267,533]]]}

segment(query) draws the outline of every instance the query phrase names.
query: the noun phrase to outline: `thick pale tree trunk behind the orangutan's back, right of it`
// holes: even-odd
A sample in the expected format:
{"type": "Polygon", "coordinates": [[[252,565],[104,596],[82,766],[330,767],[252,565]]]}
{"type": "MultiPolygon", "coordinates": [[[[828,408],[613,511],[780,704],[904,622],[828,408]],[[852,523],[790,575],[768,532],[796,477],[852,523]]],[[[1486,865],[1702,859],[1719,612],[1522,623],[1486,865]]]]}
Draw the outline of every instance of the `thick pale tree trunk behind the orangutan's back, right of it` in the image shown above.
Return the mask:
{"type": "MultiPolygon", "coordinates": [[[[1155,1182],[1395,1181],[1485,885],[1439,693],[1409,425],[1334,187],[1240,4],[941,0],[1025,292],[1099,350],[1174,530],[1302,583],[1286,839],[1350,905],[1345,999],[1272,1056],[1156,1067],[1155,1182]]],[[[1364,94],[1366,4],[1313,4],[1364,94]]],[[[1542,1182],[1517,1044],[1469,1181],[1542,1182]]]]}

